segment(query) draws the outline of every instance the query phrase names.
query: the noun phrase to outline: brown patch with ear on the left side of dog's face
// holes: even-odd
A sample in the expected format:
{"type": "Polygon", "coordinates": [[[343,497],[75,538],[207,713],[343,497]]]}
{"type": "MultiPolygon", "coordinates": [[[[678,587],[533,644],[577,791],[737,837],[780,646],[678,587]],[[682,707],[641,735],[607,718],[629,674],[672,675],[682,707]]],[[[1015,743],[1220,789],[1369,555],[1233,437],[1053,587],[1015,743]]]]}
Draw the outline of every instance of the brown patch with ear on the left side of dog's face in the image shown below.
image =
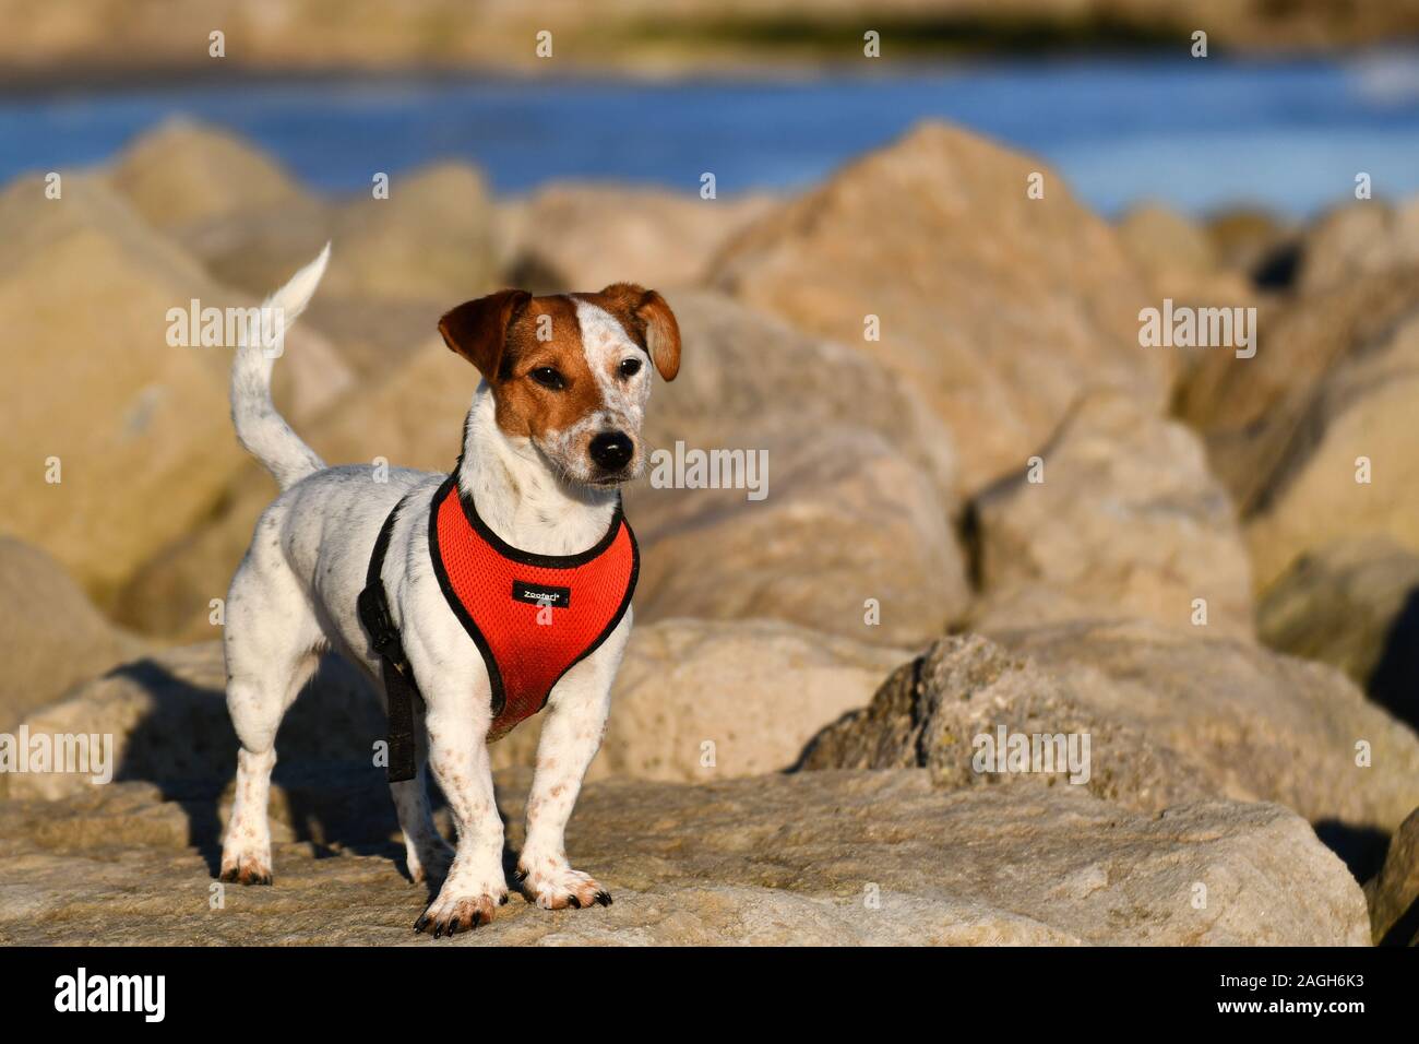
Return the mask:
{"type": "Polygon", "coordinates": [[[492,388],[498,428],[508,435],[536,439],[602,408],[569,297],[504,290],[458,305],[440,320],[438,331],[492,388]],[[556,371],[562,386],[534,381],[531,374],[541,369],[556,371]]]}

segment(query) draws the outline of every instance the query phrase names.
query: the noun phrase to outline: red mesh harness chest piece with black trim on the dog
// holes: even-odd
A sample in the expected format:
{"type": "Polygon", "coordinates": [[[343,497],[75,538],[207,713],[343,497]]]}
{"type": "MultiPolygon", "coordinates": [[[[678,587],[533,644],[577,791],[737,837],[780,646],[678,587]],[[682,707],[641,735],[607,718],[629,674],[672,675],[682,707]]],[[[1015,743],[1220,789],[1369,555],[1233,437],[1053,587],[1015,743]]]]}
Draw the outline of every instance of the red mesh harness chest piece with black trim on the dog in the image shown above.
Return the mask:
{"type": "Polygon", "coordinates": [[[434,494],[429,554],[448,607],[492,683],[488,743],[546,703],[562,675],[616,629],[640,571],[620,504],[593,547],[572,555],[521,551],[490,530],[455,474],[434,494]]]}

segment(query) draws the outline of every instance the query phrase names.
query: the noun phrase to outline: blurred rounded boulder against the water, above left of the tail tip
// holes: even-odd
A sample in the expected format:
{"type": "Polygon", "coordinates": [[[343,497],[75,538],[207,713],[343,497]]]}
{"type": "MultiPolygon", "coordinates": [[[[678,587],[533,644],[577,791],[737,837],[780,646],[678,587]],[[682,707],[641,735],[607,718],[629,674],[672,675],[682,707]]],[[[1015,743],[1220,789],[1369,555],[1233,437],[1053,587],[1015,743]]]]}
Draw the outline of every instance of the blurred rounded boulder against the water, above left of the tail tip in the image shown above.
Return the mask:
{"type": "Polygon", "coordinates": [[[237,219],[301,196],[289,175],[265,153],[227,131],[189,119],[169,119],[139,136],[109,170],[108,182],[163,230],[237,219]]]}

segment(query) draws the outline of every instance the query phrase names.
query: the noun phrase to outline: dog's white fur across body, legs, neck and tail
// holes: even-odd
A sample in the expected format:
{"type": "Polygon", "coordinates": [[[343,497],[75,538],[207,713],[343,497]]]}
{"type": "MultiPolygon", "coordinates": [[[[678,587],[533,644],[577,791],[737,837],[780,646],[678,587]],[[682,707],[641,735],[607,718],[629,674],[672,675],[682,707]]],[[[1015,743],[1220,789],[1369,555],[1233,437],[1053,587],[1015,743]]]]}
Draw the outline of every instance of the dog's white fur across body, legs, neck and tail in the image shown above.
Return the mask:
{"type": "MultiPolygon", "coordinates": [[[[288,322],[314,293],[326,256],[328,249],[272,295],[288,310],[288,322]]],[[[634,348],[604,311],[579,305],[579,317],[583,331],[589,331],[585,344],[595,372],[604,372],[612,352],[634,348]]],[[[646,371],[648,365],[623,386],[603,386],[606,409],[597,423],[614,420],[639,435],[648,393],[646,371]]],[[[270,881],[267,795],[275,733],[315,670],[319,653],[326,648],[342,652],[382,689],[379,658],[355,607],[379,528],[409,493],[392,531],[383,582],[426,713],[416,714],[419,776],[390,790],[412,876],[438,878],[447,871],[419,926],[427,923],[440,935],[477,926],[491,919],[507,896],[502,821],[494,804],[485,744],[491,723],[488,673],[444,601],[429,558],[430,500],[444,476],[396,469],[386,483],[379,483],[368,466],[325,467],[271,408],[270,372],[270,361],[258,361],[250,348],[238,352],[233,368],[238,435],[284,491],[261,514],[227,598],[227,706],[241,751],[237,797],[223,845],[223,876],[270,881]],[[448,798],[458,834],[455,851],[438,837],[430,818],[426,763],[448,798]]],[[[494,420],[492,392],[485,384],[474,393],[463,450],[458,484],[507,543],[539,554],[572,554],[595,544],[610,524],[616,491],[566,483],[529,440],[504,435],[494,420]]],[[[542,906],[586,906],[603,891],[568,864],[563,832],[600,746],[612,680],[630,628],[627,611],[607,641],[562,678],[542,712],[546,720],[519,859],[526,872],[524,886],[542,906]]]]}

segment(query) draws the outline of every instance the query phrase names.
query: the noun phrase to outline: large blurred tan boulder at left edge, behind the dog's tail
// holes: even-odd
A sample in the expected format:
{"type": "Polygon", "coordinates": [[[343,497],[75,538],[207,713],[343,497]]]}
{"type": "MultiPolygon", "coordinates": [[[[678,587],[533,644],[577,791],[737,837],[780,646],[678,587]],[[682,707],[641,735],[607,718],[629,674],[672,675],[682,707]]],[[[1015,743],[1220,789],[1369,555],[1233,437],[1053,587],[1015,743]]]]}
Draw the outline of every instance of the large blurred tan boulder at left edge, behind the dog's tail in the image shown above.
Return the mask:
{"type": "MultiPolygon", "coordinates": [[[[213,510],[243,460],[231,354],[169,345],[169,310],[254,303],[211,283],[101,182],[71,173],[62,189],[47,200],[28,178],[0,193],[0,322],[13,345],[0,497],[13,535],[106,601],[213,510]]],[[[285,348],[277,395],[288,416],[343,391],[346,371],[311,331],[285,348]]]]}

